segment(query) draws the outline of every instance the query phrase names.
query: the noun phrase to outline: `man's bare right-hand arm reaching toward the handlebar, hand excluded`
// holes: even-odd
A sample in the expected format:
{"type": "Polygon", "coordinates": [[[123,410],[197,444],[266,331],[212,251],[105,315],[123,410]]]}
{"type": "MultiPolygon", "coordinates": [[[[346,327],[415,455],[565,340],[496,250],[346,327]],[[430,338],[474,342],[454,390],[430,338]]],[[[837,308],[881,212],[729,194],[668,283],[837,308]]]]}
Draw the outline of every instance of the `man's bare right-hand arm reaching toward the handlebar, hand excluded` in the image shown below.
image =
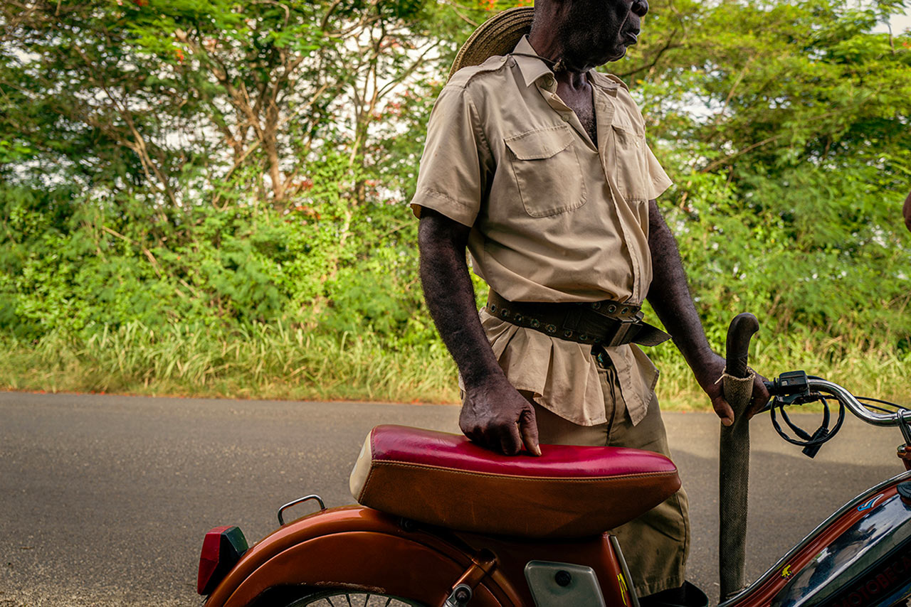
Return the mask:
{"type": "Polygon", "coordinates": [[[648,299],[691,369],[699,370],[714,354],[692,303],[680,252],[654,200],[649,203],[652,279],[648,299]]]}

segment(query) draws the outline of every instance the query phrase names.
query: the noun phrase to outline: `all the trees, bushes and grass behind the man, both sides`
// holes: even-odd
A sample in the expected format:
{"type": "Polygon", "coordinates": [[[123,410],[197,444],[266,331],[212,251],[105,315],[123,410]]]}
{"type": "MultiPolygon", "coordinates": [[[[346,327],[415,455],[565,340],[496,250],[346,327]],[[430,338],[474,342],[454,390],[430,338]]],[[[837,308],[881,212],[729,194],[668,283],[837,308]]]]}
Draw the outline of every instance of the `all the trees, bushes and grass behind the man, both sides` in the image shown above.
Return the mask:
{"type": "MultiPolygon", "coordinates": [[[[0,381],[455,399],[405,203],[461,41],[527,2],[33,4],[0,7],[0,339],[35,370],[0,381]]],[[[655,0],[609,66],[715,347],[746,309],[771,364],[899,383],[911,34],[872,30],[905,7],[655,0]]]]}

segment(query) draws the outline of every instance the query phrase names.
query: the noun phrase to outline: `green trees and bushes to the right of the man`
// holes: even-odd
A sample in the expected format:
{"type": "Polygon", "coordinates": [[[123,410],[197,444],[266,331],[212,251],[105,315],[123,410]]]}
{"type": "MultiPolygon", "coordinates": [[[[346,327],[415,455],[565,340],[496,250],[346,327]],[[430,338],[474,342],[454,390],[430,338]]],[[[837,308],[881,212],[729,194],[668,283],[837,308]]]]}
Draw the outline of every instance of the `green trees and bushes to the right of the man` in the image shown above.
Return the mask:
{"type": "Polygon", "coordinates": [[[870,32],[903,7],[655,3],[614,66],[677,182],[659,202],[716,347],[746,309],[906,348],[911,35],[870,32]]]}

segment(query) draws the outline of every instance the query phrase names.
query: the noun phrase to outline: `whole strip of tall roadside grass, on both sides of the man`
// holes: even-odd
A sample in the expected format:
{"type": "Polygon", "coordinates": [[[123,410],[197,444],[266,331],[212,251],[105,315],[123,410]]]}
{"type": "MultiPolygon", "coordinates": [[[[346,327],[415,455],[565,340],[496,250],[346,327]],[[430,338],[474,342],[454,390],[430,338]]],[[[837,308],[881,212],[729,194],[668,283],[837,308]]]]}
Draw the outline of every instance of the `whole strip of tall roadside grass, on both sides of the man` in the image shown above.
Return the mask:
{"type": "MultiPolygon", "coordinates": [[[[819,333],[757,339],[752,364],[772,377],[804,369],[857,395],[911,404],[911,353],[888,339],[819,333]]],[[[370,335],[315,335],[259,325],[225,331],[130,324],[89,338],[52,333],[37,343],[0,338],[0,387],[289,400],[457,402],[455,365],[440,344],[395,351],[370,335]]],[[[666,410],[708,410],[671,345],[652,351],[666,410]]]]}

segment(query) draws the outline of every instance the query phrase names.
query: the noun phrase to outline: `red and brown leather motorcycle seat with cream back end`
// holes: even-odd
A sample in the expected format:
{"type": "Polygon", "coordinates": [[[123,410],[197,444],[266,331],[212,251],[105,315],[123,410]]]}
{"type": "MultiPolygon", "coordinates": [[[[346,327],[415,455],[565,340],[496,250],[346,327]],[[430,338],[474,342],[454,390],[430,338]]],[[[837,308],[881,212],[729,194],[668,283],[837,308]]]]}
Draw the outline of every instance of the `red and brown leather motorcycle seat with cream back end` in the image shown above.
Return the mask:
{"type": "Polygon", "coordinates": [[[351,473],[359,503],[456,531],[525,538],[600,535],[680,489],[673,462],[619,447],[541,445],[515,457],[466,437],[377,426],[351,473]]]}

